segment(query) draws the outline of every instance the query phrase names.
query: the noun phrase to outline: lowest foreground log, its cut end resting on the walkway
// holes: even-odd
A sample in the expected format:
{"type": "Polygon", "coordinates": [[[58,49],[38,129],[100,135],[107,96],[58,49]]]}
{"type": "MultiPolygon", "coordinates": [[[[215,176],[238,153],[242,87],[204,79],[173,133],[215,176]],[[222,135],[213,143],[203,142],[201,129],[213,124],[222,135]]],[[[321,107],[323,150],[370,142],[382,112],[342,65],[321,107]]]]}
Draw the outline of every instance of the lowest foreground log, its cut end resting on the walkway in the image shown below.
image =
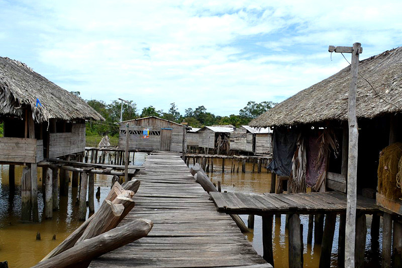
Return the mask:
{"type": "Polygon", "coordinates": [[[32,268],[63,268],[79,262],[90,261],[93,258],[147,236],[152,227],[153,223],[150,220],[134,220],[96,237],[86,239],[53,258],[39,262],[32,268]]]}

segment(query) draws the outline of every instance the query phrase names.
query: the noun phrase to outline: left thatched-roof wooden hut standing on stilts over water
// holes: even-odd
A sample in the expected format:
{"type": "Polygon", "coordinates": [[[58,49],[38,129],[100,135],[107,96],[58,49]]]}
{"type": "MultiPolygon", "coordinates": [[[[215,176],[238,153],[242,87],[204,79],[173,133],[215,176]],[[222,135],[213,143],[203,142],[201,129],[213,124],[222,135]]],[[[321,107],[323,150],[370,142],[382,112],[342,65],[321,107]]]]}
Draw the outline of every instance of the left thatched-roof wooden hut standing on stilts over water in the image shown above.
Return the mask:
{"type": "MultiPolygon", "coordinates": [[[[0,164],[10,165],[11,192],[14,165],[26,165],[21,179],[23,220],[39,220],[37,163],[44,158],[69,159],[71,154],[82,157],[87,119],[104,120],[84,100],[26,64],[0,57],[0,164]]],[[[60,175],[60,194],[68,194],[68,176],[60,175]]],[[[57,194],[53,206],[57,208],[57,194]]]]}

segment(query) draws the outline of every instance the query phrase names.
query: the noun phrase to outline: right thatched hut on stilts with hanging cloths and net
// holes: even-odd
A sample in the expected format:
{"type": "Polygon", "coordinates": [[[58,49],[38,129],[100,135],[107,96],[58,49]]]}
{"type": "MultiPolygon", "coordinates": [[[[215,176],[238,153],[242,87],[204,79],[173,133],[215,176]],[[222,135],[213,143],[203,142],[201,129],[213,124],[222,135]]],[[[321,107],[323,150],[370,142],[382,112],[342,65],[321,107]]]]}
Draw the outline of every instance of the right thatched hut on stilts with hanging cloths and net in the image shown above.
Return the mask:
{"type": "MultiPolygon", "coordinates": [[[[357,191],[375,198],[383,212],[380,214],[383,267],[390,266],[393,221],[392,259],[394,267],[399,267],[402,265],[402,47],[361,60],[359,74],[357,191]]],[[[268,168],[287,180],[288,192],[306,192],[307,188],[315,192],[346,192],[349,85],[350,66],[279,103],[249,124],[273,128],[273,161],[268,168]]],[[[378,241],[380,215],[372,218],[374,241],[375,235],[378,241]]],[[[341,217],[341,225],[344,219],[341,217]]],[[[364,215],[357,215],[356,226],[358,222],[366,228],[364,215]]],[[[356,231],[356,234],[366,233],[356,231]]],[[[340,242],[339,246],[342,252],[344,244],[340,242]]],[[[356,249],[356,263],[363,261],[364,245],[359,252],[356,249]]],[[[343,256],[339,255],[338,263],[344,262],[343,256]]]]}

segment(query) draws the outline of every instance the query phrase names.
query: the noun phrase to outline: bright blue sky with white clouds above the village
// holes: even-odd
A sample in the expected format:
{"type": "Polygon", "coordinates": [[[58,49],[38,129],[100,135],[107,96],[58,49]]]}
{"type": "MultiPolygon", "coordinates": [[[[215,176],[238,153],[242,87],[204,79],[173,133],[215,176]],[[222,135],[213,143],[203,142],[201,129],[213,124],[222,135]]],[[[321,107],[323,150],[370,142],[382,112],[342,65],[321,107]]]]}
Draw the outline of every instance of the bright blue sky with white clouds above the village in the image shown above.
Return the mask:
{"type": "Polygon", "coordinates": [[[0,56],[85,100],[223,116],[347,66],[328,45],[360,42],[361,59],[401,46],[401,10],[400,0],[0,0],[0,56]]]}

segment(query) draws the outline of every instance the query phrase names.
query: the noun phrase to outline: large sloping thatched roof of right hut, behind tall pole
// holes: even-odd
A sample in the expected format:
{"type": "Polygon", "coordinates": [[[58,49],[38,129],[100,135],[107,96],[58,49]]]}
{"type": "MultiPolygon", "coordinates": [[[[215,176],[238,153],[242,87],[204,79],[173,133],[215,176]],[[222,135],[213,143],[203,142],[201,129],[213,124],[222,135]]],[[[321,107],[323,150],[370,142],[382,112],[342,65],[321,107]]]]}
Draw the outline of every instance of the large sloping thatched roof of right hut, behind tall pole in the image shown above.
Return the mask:
{"type": "MultiPolygon", "coordinates": [[[[356,93],[357,118],[402,112],[402,47],[362,60],[356,93]]],[[[348,120],[350,66],[300,91],[250,122],[253,127],[348,120]]]]}

